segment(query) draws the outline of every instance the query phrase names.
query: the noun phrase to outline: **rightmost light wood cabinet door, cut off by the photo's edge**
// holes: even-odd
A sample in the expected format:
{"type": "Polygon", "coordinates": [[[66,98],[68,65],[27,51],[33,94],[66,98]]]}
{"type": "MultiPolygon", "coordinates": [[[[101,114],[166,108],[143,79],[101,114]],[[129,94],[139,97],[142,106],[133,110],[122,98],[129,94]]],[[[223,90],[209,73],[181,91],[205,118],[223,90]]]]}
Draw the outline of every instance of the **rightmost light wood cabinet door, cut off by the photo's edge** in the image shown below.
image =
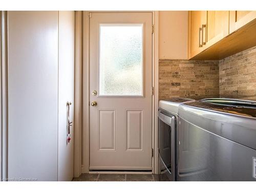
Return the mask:
{"type": "Polygon", "coordinates": [[[256,11],[229,11],[229,34],[256,18],[256,11]]]}

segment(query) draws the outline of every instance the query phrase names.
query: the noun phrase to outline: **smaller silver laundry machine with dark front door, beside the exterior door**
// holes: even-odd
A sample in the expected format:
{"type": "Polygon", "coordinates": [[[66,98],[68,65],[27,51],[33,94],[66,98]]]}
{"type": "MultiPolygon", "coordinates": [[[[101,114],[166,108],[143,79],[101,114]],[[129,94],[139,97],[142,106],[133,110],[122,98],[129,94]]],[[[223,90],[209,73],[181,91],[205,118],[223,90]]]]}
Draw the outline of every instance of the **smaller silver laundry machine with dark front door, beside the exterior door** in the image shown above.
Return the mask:
{"type": "Polygon", "coordinates": [[[176,119],[178,106],[193,101],[187,98],[170,98],[159,101],[158,153],[161,181],[176,179],[176,119]]]}

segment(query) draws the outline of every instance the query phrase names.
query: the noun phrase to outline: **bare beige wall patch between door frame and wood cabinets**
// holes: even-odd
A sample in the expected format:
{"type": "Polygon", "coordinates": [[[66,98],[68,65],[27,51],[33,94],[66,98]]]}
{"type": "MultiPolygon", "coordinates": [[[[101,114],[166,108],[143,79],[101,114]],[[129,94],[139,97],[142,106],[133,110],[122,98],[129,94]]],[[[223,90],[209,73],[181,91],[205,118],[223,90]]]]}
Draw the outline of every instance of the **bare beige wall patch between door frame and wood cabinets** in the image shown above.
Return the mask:
{"type": "Polygon", "coordinates": [[[159,59],[187,59],[188,11],[159,11],[159,59]]]}

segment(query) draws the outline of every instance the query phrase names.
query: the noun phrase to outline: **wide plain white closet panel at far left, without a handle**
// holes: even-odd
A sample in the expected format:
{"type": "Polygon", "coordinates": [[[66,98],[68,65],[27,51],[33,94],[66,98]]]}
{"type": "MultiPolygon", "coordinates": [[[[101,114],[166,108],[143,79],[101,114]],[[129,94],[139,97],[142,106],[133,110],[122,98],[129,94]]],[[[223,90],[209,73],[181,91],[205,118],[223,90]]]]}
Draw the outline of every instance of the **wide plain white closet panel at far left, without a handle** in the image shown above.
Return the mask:
{"type": "Polygon", "coordinates": [[[8,12],[8,177],[57,180],[58,12],[8,12]]]}

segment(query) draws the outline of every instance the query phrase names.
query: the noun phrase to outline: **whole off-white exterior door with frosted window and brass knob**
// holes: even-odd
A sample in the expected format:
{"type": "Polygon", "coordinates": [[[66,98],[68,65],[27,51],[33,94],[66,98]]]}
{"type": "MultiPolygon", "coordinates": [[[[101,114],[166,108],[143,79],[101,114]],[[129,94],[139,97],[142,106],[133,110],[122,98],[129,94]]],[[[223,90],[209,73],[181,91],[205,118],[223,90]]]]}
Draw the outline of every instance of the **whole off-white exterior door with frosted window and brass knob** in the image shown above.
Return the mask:
{"type": "Polygon", "coordinates": [[[152,13],[90,14],[90,90],[90,169],[151,170],[152,13]]]}

